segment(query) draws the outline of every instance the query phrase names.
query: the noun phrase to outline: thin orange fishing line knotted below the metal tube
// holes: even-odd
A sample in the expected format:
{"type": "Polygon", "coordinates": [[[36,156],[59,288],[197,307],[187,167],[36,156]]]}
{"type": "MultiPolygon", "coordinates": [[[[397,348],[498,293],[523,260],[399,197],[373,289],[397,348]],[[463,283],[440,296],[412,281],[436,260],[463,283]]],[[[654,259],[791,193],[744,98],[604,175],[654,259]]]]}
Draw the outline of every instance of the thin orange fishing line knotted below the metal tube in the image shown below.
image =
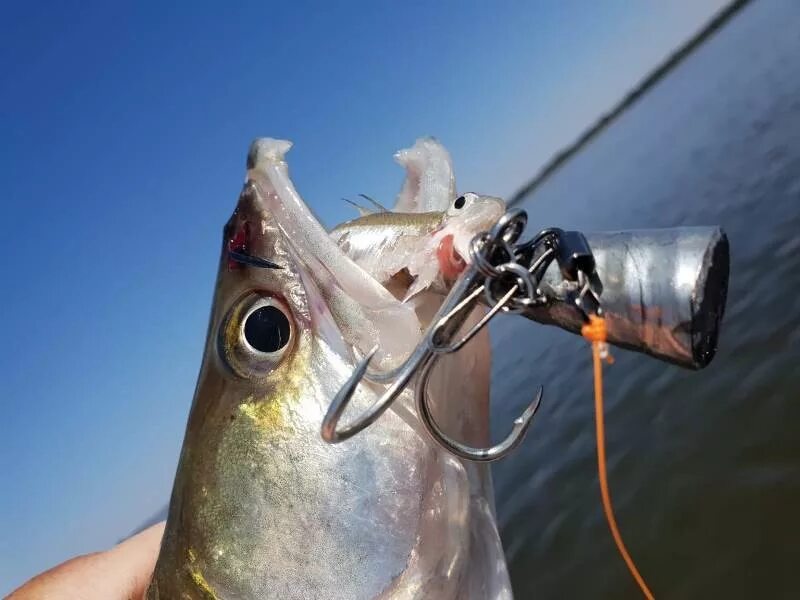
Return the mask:
{"type": "Polygon", "coordinates": [[[600,479],[600,496],[603,499],[603,511],[606,514],[608,527],[617,545],[617,550],[622,555],[628,570],[633,575],[639,588],[648,600],[653,600],[653,593],[647,587],[644,578],[636,568],[633,558],[622,541],[622,535],[617,527],[617,520],[614,517],[614,510],[611,507],[611,493],[608,491],[608,473],[606,471],[606,434],[603,421],[603,358],[608,362],[613,362],[611,356],[605,350],[606,343],[606,322],[598,316],[590,316],[589,323],[581,329],[581,334],[592,343],[592,359],[594,363],[594,416],[595,431],[597,434],[597,474],[600,479]],[[605,355],[605,356],[604,356],[605,355]]]}

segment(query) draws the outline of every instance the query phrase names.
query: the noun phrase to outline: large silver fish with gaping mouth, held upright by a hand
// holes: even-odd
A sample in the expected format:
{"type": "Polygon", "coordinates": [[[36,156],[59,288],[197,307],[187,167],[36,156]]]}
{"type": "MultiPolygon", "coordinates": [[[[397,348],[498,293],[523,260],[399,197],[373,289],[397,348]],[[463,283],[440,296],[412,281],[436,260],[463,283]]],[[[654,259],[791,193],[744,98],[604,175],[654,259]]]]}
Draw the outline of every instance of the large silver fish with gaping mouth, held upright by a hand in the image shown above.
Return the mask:
{"type": "MultiPolygon", "coordinates": [[[[357,355],[377,341],[385,364],[402,360],[427,321],[328,236],[289,178],[290,147],[252,144],[224,228],[146,598],[511,598],[488,467],[436,445],[410,390],[359,435],[320,436],[357,355]]],[[[488,338],[469,346],[488,353],[488,338]]],[[[486,356],[445,357],[429,387],[442,427],[471,443],[489,436],[486,356]]],[[[383,389],[360,385],[353,410],[383,389]]]]}

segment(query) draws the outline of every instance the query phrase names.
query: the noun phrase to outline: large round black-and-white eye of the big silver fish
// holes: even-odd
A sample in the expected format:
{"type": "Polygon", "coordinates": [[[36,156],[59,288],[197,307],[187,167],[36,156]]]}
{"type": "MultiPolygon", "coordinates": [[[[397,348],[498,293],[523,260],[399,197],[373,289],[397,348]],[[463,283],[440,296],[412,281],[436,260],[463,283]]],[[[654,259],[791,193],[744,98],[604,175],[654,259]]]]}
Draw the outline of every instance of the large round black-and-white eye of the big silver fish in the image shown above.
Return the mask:
{"type": "Polygon", "coordinates": [[[252,293],[229,311],[218,337],[220,355],[237,375],[263,377],[294,341],[291,311],[273,296],[252,293]]]}

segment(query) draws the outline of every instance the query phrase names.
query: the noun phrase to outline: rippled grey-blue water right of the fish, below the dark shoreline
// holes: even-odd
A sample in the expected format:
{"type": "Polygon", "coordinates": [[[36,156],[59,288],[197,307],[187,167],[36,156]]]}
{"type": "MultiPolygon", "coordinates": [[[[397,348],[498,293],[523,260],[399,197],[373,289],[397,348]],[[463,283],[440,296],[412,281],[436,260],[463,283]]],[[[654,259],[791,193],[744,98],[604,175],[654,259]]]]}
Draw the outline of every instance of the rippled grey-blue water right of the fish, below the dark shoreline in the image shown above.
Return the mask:
{"type": "MultiPolygon", "coordinates": [[[[524,207],[532,228],[725,228],[711,366],[617,350],[606,369],[612,496],[656,596],[800,597],[800,3],[746,7],[524,207]]],[[[600,507],[586,344],[513,317],[494,333],[496,439],[546,385],[495,468],[517,597],[639,597],[600,507]]]]}

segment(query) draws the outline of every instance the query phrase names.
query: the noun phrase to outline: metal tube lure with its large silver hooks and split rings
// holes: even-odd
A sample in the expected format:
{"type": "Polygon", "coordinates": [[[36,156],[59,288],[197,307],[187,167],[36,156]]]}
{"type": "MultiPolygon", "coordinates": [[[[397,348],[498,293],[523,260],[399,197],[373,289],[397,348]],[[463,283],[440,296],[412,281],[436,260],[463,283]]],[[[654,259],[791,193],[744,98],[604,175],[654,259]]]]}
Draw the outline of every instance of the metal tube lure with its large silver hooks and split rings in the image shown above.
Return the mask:
{"type": "Polygon", "coordinates": [[[681,228],[595,233],[546,229],[518,243],[527,213],[512,209],[470,244],[470,261],[445,297],[409,357],[390,372],[370,372],[377,347],[361,360],[333,399],[322,423],[323,439],[343,441],[372,424],[416,376],[417,414],[431,437],[472,461],[507,456],[521,443],[542,398],[514,421],[499,444],[476,448],[450,438],[436,424],[427,399],[431,369],[457,352],[499,312],[558,325],[579,333],[591,316],[603,315],[608,342],[700,369],[714,357],[727,295],[729,249],[719,228],[681,228]],[[600,297],[603,302],[601,305],[600,297]],[[477,302],[487,314],[460,334],[477,302]],[[339,421],[363,380],[390,385],[344,428],[339,421]]]}

